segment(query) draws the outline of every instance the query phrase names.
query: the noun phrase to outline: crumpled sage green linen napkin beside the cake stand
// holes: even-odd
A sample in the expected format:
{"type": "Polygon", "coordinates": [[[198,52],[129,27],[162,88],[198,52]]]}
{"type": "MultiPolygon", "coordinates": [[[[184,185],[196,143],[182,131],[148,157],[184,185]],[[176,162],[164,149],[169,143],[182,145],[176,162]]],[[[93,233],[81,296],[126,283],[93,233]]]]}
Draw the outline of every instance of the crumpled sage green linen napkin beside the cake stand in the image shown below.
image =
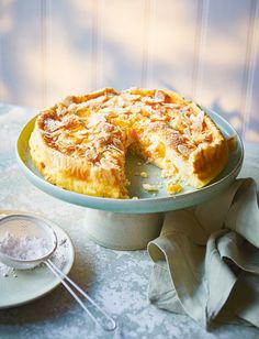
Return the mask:
{"type": "Polygon", "coordinates": [[[259,211],[251,178],[194,208],[166,215],[149,242],[148,297],[157,307],[214,321],[259,327],[259,211]],[[245,321],[244,321],[245,320],[245,321]]]}

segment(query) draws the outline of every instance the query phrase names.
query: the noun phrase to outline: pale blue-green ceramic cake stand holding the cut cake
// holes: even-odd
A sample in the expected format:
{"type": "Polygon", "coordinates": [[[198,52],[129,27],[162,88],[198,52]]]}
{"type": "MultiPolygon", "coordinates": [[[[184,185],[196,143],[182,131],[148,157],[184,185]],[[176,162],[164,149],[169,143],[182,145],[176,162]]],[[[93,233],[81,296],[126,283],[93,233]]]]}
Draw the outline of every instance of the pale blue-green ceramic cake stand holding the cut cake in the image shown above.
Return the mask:
{"type": "Polygon", "coordinates": [[[143,160],[128,155],[126,164],[127,177],[131,182],[130,195],[138,199],[111,199],[77,194],[46,182],[34,167],[29,150],[29,139],[34,128],[35,118],[23,128],[16,147],[19,164],[36,187],[61,200],[86,208],[85,229],[87,234],[101,245],[116,250],[137,250],[146,248],[148,241],[159,236],[164,212],[198,205],[212,198],[226,188],[237,177],[244,158],[240,138],[233,127],[211,110],[205,110],[216,122],[226,138],[236,136],[236,149],[230,152],[225,170],[213,183],[195,189],[184,187],[182,193],[170,196],[166,192],[167,182],[161,179],[160,170],[145,164],[143,160]],[[139,162],[142,165],[139,165],[139,162]],[[147,172],[148,178],[136,175],[147,172]],[[156,195],[143,189],[143,184],[158,184],[156,195]]]}

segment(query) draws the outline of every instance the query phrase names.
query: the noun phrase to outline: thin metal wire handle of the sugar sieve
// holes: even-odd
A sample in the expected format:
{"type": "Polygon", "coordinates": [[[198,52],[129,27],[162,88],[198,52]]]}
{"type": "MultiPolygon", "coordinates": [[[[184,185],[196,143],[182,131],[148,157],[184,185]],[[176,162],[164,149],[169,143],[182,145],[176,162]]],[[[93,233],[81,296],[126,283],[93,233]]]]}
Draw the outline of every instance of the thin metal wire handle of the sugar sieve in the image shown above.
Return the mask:
{"type": "Polygon", "coordinates": [[[78,302],[78,304],[82,307],[83,310],[89,315],[89,317],[98,325],[101,326],[105,331],[113,331],[116,328],[115,320],[109,316],[97,303],[89,296],[82,288],[80,288],[74,281],[71,281],[66,274],[64,274],[49,259],[45,261],[47,267],[55,274],[60,283],[67,288],[67,291],[71,294],[71,296],[78,302]],[[70,286],[69,286],[70,284],[70,286]],[[79,292],[79,294],[87,299],[91,307],[93,307],[94,313],[98,313],[99,316],[94,316],[92,311],[82,303],[82,300],[78,297],[78,295],[72,291],[71,286],[79,292]],[[101,315],[101,316],[100,316],[101,315]],[[98,320],[97,318],[101,318],[98,320]]]}

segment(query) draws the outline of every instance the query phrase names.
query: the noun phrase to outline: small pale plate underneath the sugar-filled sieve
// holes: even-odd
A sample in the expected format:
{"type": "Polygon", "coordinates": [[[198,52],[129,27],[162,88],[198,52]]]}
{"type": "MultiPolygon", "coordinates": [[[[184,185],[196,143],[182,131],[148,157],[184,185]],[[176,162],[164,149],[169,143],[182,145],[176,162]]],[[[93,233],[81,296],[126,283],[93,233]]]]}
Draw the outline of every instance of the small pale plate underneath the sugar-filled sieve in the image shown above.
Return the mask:
{"type": "MultiPolygon", "coordinates": [[[[0,210],[0,216],[13,214],[25,214],[42,218],[29,212],[0,210]]],[[[58,239],[58,247],[53,261],[65,274],[68,274],[75,259],[71,240],[60,227],[49,220],[46,221],[55,230],[58,239]]],[[[59,280],[45,265],[33,270],[15,270],[14,274],[9,273],[8,276],[2,275],[2,265],[0,263],[0,309],[32,302],[44,296],[60,284],[59,280]]]]}

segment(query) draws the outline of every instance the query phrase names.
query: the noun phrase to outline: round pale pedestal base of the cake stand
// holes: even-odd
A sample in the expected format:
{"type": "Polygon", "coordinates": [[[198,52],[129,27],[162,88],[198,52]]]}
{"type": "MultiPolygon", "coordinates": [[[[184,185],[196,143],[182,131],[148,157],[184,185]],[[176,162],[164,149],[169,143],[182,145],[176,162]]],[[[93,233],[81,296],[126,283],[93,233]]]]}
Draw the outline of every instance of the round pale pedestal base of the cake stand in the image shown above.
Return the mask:
{"type": "Polygon", "coordinates": [[[85,230],[98,244],[122,251],[146,249],[160,234],[164,214],[115,214],[87,209],[85,230]]]}

